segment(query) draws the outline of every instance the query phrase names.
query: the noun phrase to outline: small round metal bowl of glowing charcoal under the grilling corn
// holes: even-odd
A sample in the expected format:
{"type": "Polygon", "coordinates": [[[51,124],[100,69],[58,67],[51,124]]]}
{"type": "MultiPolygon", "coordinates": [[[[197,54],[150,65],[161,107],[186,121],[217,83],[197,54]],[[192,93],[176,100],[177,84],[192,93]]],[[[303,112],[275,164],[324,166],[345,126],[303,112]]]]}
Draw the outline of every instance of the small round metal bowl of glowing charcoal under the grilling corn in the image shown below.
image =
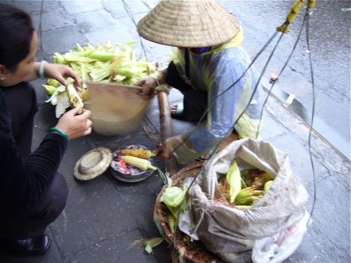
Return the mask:
{"type": "MultiPolygon", "coordinates": [[[[121,149],[118,149],[117,151],[114,151],[112,153],[112,162],[110,165],[110,173],[117,178],[118,180],[121,180],[123,182],[140,182],[143,180],[146,180],[148,177],[150,177],[153,173],[154,170],[140,170],[138,168],[135,168],[134,166],[129,165],[128,163],[125,163],[124,161],[121,160],[121,154],[119,154],[119,151],[123,149],[147,149],[143,145],[139,144],[132,144],[128,145],[126,147],[122,147],[121,149]]],[[[149,159],[149,161],[152,163],[154,166],[154,160],[149,159]]]]}

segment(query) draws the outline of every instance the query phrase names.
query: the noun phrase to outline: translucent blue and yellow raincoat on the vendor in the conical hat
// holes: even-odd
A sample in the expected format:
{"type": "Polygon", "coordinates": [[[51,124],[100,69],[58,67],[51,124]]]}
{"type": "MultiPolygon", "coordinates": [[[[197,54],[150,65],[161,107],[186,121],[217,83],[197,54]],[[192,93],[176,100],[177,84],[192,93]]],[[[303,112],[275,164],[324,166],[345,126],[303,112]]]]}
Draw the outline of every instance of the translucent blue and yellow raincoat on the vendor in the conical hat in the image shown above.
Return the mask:
{"type": "MultiPolygon", "coordinates": [[[[256,90],[253,99],[249,102],[258,76],[253,67],[250,67],[244,74],[251,60],[244,48],[240,46],[243,40],[244,34],[241,31],[234,39],[222,45],[213,46],[205,53],[200,55],[189,53],[191,85],[195,89],[207,92],[208,105],[211,106],[206,119],[199,123],[193,131],[166,140],[168,149],[171,151],[176,149],[174,154],[179,163],[186,163],[213,150],[227,135],[248,104],[249,106],[234,128],[240,138],[256,137],[263,102],[260,98],[260,88],[256,90]],[[241,77],[243,74],[244,76],[241,77]],[[235,82],[237,83],[232,86],[235,82]],[[227,90],[228,88],[230,89],[227,90]],[[220,95],[225,90],[227,92],[220,95]],[[187,138],[189,135],[190,137],[187,138]]],[[[171,60],[176,65],[180,76],[187,81],[184,51],[174,48],[171,60]]]]}

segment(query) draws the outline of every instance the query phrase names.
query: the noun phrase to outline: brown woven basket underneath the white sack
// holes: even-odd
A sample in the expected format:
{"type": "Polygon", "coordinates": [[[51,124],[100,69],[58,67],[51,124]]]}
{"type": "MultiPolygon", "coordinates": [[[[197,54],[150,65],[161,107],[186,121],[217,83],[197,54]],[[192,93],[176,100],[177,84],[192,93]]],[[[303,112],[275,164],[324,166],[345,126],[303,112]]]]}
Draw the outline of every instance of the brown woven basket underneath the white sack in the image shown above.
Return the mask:
{"type": "MultiPolygon", "coordinates": [[[[180,186],[186,177],[195,177],[202,163],[192,163],[172,176],[173,186],[180,186]]],[[[200,241],[190,241],[190,237],[176,229],[176,245],[173,245],[174,236],[168,226],[168,216],[171,215],[164,203],[159,201],[166,186],[161,189],[154,205],[154,222],[157,224],[161,235],[173,248],[178,250],[178,255],[184,255],[188,262],[213,263],[223,262],[215,254],[208,251],[200,241]]]]}

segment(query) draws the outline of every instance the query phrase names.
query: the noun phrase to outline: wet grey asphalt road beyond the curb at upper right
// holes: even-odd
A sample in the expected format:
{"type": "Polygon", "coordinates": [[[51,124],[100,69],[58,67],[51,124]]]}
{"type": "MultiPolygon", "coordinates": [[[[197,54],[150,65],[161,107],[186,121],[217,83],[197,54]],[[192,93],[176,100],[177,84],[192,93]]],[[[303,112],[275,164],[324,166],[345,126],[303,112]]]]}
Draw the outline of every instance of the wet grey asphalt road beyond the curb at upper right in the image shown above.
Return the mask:
{"type": "MultiPolygon", "coordinates": [[[[246,39],[244,46],[251,58],[285,21],[295,1],[219,1],[241,23],[246,39]]],[[[310,19],[310,55],[314,79],[315,115],[313,127],[350,159],[350,8],[351,1],[317,0],[310,19]]],[[[278,74],[295,43],[305,15],[305,7],[291,23],[264,75],[278,74]]],[[[262,71],[277,36],[260,55],[255,66],[262,71]]],[[[307,51],[306,31],[300,37],[288,67],[280,76],[273,93],[281,100],[296,95],[291,109],[311,121],[312,81],[307,51]]],[[[269,87],[270,88],[270,87],[269,87]]]]}

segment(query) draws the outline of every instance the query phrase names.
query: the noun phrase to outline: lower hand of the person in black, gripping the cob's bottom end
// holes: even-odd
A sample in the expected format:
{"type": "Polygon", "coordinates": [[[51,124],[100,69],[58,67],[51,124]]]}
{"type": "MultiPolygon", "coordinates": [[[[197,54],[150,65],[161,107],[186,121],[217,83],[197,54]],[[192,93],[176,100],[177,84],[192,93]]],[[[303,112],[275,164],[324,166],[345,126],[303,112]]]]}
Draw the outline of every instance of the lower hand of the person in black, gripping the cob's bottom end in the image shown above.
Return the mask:
{"type": "Polygon", "coordinates": [[[79,138],[91,133],[93,122],[88,119],[90,116],[90,111],[84,109],[78,115],[78,108],[74,108],[63,114],[55,127],[67,133],[70,139],[79,138]]]}

